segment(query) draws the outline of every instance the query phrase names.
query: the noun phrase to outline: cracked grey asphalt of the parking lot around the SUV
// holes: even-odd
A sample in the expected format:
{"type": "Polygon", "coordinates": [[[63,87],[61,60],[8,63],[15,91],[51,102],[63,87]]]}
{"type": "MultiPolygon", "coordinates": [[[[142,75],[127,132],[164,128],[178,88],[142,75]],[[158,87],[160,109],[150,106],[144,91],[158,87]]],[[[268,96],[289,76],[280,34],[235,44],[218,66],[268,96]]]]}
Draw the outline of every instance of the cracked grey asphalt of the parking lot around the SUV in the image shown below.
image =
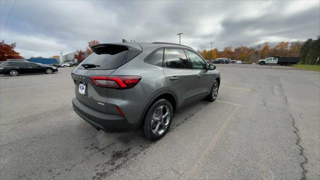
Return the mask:
{"type": "Polygon", "coordinates": [[[1,179],[320,179],[318,72],[217,64],[218,99],[150,142],[82,120],[72,69],[0,76],[1,179]]]}

